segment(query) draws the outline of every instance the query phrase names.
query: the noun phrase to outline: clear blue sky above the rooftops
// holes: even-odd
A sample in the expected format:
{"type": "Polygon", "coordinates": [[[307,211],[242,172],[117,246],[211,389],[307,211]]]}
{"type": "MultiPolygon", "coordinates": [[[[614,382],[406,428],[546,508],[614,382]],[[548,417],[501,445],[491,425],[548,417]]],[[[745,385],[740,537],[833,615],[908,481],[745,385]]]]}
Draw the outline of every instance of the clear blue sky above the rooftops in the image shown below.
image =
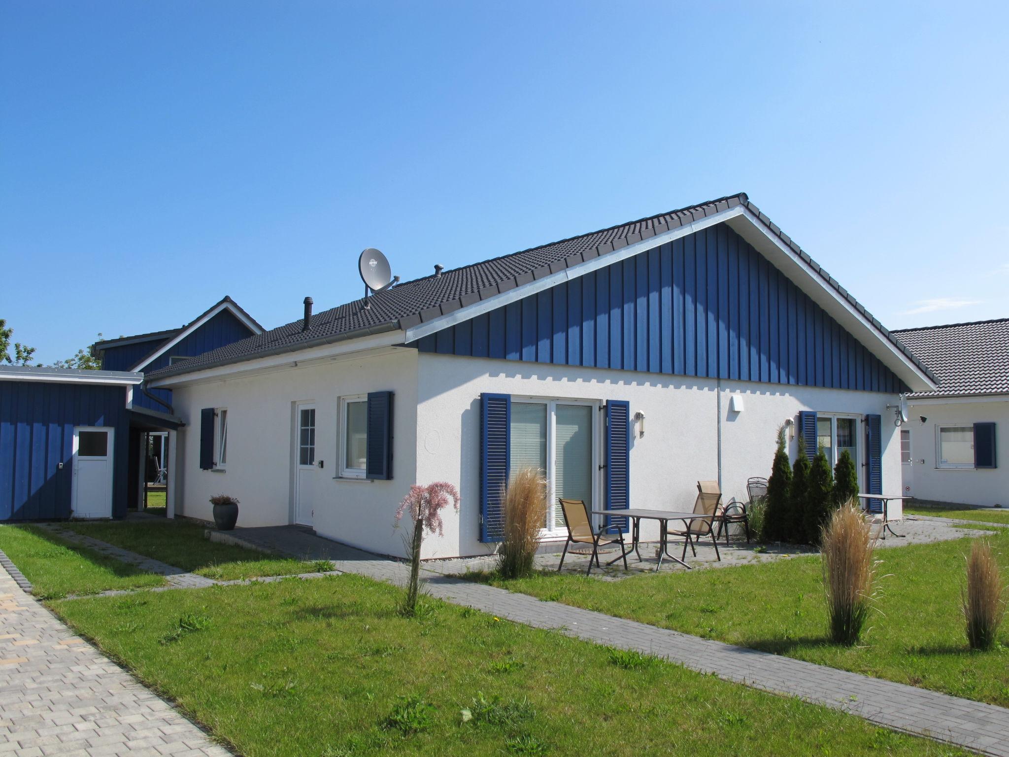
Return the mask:
{"type": "Polygon", "coordinates": [[[1009,4],[0,2],[0,317],[267,327],[745,191],[884,324],[1009,316],[1009,4]]]}

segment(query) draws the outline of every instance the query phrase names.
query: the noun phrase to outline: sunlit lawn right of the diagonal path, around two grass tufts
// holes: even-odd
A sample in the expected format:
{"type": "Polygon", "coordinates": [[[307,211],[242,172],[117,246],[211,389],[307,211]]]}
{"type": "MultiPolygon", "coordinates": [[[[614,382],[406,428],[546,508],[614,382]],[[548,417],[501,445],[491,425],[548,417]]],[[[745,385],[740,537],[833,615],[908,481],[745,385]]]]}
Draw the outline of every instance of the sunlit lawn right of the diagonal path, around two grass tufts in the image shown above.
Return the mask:
{"type": "MultiPolygon", "coordinates": [[[[1009,531],[992,537],[1009,575],[1009,531]]],[[[543,600],[597,610],[696,636],[821,665],[889,678],[958,696],[1009,706],[1009,625],[1002,646],[971,652],[960,610],[968,539],[880,549],[882,597],[864,639],[845,648],[825,641],[818,555],[602,581],[554,571],[516,581],[474,580],[543,600]],[[889,575],[888,575],[889,574],[889,575]]]]}

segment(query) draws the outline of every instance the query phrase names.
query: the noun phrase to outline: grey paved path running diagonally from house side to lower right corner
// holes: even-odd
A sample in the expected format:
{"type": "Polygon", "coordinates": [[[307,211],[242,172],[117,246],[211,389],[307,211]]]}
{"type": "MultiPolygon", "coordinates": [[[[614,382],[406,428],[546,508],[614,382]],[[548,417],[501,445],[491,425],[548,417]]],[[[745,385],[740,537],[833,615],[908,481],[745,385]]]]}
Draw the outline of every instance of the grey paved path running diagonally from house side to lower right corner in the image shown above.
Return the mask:
{"type": "MultiPolygon", "coordinates": [[[[403,584],[407,565],[295,527],[236,529],[236,541],[305,559],[331,559],[339,570],[403,584]]],[[[904,540],[893,540],[903,542],[904,540]]],[[[889,544],[890,540],[887,540],[889,544]]],[[[584,560],[581,557],[582,569],[584,560]]],[[[528,594],[423,570],[433,597],[596,644],[634,649],[748,686],[797,696],[897,731],[1009,757],[1009,710],[835,670],[810,662],[701,639],[528,594]]]]}

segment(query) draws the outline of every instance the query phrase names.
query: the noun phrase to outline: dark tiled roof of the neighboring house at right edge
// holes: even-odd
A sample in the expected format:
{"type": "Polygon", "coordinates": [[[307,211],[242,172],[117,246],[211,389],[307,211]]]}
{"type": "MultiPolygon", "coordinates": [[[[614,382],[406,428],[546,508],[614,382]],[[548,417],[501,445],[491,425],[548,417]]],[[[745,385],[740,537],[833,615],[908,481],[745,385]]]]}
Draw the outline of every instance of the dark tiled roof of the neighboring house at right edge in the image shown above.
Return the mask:
{"type": "Polygon", "coordinates": [[[1009,318],[893,332],[939,379],[909,397],[1009,394],[1009,318]]]}

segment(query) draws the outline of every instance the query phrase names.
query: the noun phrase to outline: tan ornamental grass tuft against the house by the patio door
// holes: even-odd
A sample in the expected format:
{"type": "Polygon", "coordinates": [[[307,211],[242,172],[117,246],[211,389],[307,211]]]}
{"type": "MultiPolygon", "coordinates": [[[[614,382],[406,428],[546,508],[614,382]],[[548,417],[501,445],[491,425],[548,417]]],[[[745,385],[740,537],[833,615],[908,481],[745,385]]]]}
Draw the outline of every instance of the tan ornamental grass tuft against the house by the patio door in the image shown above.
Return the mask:
{"type": "Polygon", "coordinates": [[[504,533],[497,550],[502,577],[532,574],[547,517],[547,479],[537,468],[521,468],[512,476],[504,491],[504,533]]]}

